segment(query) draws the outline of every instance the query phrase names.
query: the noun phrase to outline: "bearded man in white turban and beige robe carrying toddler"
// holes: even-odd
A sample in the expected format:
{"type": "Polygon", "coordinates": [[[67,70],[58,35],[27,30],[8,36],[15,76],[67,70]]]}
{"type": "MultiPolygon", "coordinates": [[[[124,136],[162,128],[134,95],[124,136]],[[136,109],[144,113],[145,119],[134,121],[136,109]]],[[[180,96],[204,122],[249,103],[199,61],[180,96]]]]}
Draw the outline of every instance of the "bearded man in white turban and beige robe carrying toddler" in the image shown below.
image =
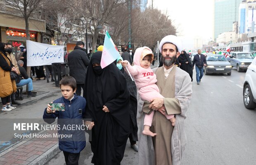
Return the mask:
{"type": "Polygon", "coordinates": [[[139,136],[139,165],[181,165],[181,157],[186,145],[186,112],[192,98],[191,78],[187,72],[174,66],[182,50],[181,40],[174,36],[164,37],[159,50],[163,66],[156,71],[156,85],[165,98],[154,98],[143,102],[137,94],[137,123],[139,136]],[[161,108],[164,105],[164,109],[161,108]],[[157,136],[142,135],[145,113],[156,110],[150,128],[157,136]],[[164,114],[175,114],[175,126],[164,114]]]}

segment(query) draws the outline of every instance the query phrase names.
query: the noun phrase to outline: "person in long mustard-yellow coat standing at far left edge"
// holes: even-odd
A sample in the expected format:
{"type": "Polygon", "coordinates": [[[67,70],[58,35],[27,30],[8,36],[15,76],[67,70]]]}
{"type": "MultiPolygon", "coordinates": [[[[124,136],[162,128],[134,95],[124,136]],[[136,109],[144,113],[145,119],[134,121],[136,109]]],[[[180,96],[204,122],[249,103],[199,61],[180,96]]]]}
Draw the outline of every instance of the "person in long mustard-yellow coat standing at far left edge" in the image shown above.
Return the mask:
{"type": "Polygon", "coordinates": [[[10,104],[10,97],[13,92],[17,91],[15,80],[11,80],[10,72],[18,74],[17,69],[5,53],[7,45],[0,43],[0,98],[2,100],[2,111],[11,111],[16,107],[10,104]]]}

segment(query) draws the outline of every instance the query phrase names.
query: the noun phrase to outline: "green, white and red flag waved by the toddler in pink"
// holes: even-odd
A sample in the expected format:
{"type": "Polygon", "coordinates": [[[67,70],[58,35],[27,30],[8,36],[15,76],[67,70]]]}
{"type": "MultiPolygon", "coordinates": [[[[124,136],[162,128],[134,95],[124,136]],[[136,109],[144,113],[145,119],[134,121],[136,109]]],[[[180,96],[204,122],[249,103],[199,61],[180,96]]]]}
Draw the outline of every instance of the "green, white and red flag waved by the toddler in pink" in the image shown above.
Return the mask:
{"type": "Polygon", "coordinates": [[[120,54],[117,51],[113,40],[111,39],[109,33],[106,31],[100,66],[103,69],[107,65],[113,63],[113,61],[116,60],[119,56],[120,54]]]}

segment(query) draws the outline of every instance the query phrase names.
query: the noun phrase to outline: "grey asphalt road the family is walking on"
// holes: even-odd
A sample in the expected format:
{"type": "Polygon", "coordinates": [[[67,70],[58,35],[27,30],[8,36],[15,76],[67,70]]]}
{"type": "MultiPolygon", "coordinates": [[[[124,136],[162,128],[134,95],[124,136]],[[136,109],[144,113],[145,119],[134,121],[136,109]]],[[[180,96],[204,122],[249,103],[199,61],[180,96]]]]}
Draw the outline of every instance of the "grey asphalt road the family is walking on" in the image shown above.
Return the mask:
{"type": "MultiPolygon", "coordinates": [[[[233,68],[232,75],[204,75],[200,85],[192,82],[192,101],[187,112],[187,147],[183,165],[253,165],[256,162],[256,110],[248,110],[243,104],[245,72],[233,68]]],[[[21,105],[5,118],[40,119],[47,103],[61,96],[50,95],[21,105]]],[[[1,123],[1,121],[0,121],[1,123]]],[[[88,135],[87,135],[88,137],[88,135]]],[[[79,164],[90,163],[92,153],[87,142],[81,152],[79,164]]],[[[64,165],[63,153],[57,154],[47,165],[64,165]]],[[[137,165],[137,153],[127,142],[121,165],[137,165]]]]}

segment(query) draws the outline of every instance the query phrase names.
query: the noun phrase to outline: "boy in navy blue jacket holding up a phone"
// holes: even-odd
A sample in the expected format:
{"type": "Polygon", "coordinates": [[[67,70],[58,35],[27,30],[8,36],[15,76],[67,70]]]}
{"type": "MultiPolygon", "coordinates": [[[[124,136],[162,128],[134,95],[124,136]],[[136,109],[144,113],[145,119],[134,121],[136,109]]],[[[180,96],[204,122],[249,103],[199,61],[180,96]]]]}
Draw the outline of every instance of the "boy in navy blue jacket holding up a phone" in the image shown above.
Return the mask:
{"type": "MultiPolygon", "coordinates": [[[[83,115],[85,114],[86,100],[76,95],[76,80],[71,76],[65,76],[59,82],[62,97],[53,103],[65,104],[65,111],[52,111],[51,105],[45,108],[43,119],[47,123],[53,123],[58,117],[59,134],[71,134],[70,138],[59,137],[59,149],[63,151],[66,165],[78,165],[80,152],[85,148],[86,139],[85,131],[67,130],[66,125],[81,126],[83,125],[83,115]],[[52,119],[52,120],[51,120],[52,119]]],[[[79,128],[79,127],[78,127],[79,128]]],[[[84,127],[87,129],[87,127],[84,127]]]]}

